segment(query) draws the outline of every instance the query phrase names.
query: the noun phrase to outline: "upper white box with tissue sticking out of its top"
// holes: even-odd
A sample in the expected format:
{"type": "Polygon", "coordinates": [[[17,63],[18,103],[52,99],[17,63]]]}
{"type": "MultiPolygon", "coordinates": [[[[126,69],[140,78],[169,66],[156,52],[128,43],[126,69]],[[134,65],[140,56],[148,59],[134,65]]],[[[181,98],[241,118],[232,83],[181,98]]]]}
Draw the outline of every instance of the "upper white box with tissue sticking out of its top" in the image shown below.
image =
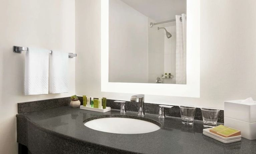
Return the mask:
{"type": "Polygon", "coordinates": [[[245,122],[256,122],[256,102],[243,103],[243,100],[224,102],[224,117],[245,122]]]}

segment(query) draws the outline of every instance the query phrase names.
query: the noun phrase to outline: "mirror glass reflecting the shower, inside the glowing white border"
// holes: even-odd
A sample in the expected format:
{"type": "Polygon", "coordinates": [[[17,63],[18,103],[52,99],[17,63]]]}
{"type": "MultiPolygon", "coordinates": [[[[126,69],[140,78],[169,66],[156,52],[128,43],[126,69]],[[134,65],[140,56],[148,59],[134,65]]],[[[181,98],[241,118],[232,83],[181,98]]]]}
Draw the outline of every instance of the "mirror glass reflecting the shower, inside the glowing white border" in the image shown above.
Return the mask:
{"type": "Polygon", "coordinates": [[[109,0],[109,82],[186,84],[186,0],[109,0]]]}

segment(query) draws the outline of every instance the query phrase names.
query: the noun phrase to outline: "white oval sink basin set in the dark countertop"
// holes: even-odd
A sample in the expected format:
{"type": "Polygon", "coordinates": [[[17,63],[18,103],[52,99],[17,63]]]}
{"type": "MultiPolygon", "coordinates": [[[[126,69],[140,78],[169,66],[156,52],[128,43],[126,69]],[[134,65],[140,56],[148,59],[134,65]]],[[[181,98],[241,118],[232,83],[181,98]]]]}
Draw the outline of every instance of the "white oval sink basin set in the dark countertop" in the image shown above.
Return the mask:
{"type": "Polygon", "coordinates": [[[142,134],[159,130],[154,123],[132,118],[99,118],[84,123],[86,127],[94,130],[117,134],[142,134]]]}

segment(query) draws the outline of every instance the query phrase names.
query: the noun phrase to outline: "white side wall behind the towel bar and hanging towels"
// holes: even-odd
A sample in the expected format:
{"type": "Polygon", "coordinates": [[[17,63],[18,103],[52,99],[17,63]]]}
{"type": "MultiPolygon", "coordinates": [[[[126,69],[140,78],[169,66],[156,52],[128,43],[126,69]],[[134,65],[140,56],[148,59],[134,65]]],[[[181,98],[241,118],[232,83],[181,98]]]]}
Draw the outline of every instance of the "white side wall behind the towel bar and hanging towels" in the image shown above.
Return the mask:
{"type": "Polygon", "coordinates": [[[12,46],[36,46],[75,52],[74,0],[0,1],[0,153],[17,154],[17,102],[75,94],[75,58],[69,59],[69,93],[24,96],[25,52],[12,46]]]}

